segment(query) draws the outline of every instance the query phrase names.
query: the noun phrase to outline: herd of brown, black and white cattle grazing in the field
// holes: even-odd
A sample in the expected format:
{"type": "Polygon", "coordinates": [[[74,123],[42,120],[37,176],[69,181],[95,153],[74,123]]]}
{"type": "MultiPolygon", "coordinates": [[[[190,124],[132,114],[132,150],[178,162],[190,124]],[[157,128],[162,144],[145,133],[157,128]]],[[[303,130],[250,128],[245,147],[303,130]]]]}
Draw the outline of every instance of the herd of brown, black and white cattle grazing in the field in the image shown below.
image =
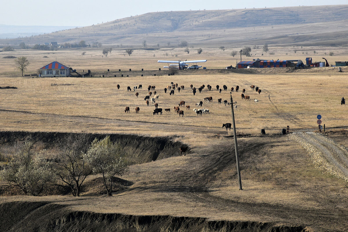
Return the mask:
{"type": "MultiPolygon", "coordinates": [[[[198,91],[201,93],[201,91],[205,87],[206,86],[204,84],[201,85],[198,88],[198,91]]],[[[133,91],[136,91],[136,90],[142,89],[142,88],[143,88],[143,86],[140,84],[139,86],[134,86],[133,87],[133,91]]],[[[196,92],[197,92],[196,88],[193,87],[192,84],[190,85],[190,88],[192,90],[193,95],[196,96],[196,92]]],[[[227,89],[228,89],[226,85],[223,85],[222,88],[223,88],[224,91],[227,91],[227,89]]],[[[259,89],[259,87],[257,87],[257,86],[255,87],[255,85],[251,85],[250,88],[252,90],[255,90],[259,94],[261,93],[261,89],[259,89]]],[[[120,89],[120,85],[117,85],[117,89],[120,89]]],[[[162,108],[158,108],[158,103],[156,103],[156,101],[158,100],[160,95],[157,94],[157,91],[155,89],[156,89],[156,86],[154,86],[154,85],[149,85],[148,86],[148,95],[144,97],[144,101],[145,101],[147,106],[149,106],[150,101],[151,101],[152,104],[154,104],[155,109],[153,110],[153,115],[158,115],[158,114],[162,115],[162,113],[163,113],[162,112],[162,108]],[[152,94],[153,94],[153,97],[151,97],[152,94]]],[[[181,85],[181,86],[178,87],[178,84],[174,84],[173,82],[171,82],[171,85],[168,85],[166,88],[164,88],[164,93],[167,93],[167,91],[170,91],[169,95],[173,96],[175,89],[180,93],[180,90],[184,90],[185,86],[181,85]]],[[[207,90],[210,91],[211,89],[212,89],[212,86],[211,85],[207,85],[207,90]]],[[[216,85],[216,90],[219,91],[219,93],[221,93],[221,91],[222,91],[222,89],[220,89],[219,85],[216,85]]],[[[130,86],[127,86],[127,92],[128,91],[132,91],[130,86]]],[[[231,92],[234,92],[234,91],[236,91],[236,92],[239,91],[239,86],[238,85],[236,86],[236,88],[231,87],[231,92]]],[[[139,92],[136,92],[135,96],[138,97],[139,96],[139,92]]],[[[246,101],[250,101],[250,96],[245,95],[245,89],[242,90],[241,97],[242,97],[242,99],[244,99],[246,101]]],[[[213,102],[213,97],[206,97],[203,100],[204,100],[204,103],[210,103],[210,102],[213,102]]],[[[217,99],[217,103],[218,104],[221,104],[221,102],[222,102],[222,98],[217,99]]],[[[254,99],[254,102],[258,103],[259,100],[258,99],[254,99]]],[[[224,100],[223,103],[225,104],[225,106],[230,105],[230,102],[228,102],[227,100],[224,100]]],[[[203,101],[199,101],[199,102],[196,103],[196,107],[202,107],[202,105],[203,105],[203,101]]],[[[178,106],[174,107],[174,111],[175,111],[175,113],[177,113],[179,115],[179,117],[180,116],[182,116],[182,117],[184,116],[184,111],[181,110],[180,107],[186,107],[186,110],[190,110],[190,106],[189,105],[185,106],[185,101],[180,101],[178,106]]],[[[235,105],[235,109],[237,109],[236,105],[235,105]]],[[[164,110],[167,113],[171,112],[171,108],[167,108],[167,109],[164,109],[164,110]]],[[[139,113],[139,111],[140,111],[140,108],[136,107],[135,108],[135,113],[139,113]]],[[[197,116],[202,116],[203,114],[208,114],[209,113],[209,109],[204,109],[204,108],[193,109],[193,111],[197,114],[197,116]]],[[[128,113],[130,112],[128,106],[125,109],[125,113],[127,113],[127,112],[128,113]]],[[[230,128],[230,130],[231,130],[231,124],[230,123],[223,124],[222,127],[226,127],[226,130],[227,130],[227,128],[230,128]]]]}

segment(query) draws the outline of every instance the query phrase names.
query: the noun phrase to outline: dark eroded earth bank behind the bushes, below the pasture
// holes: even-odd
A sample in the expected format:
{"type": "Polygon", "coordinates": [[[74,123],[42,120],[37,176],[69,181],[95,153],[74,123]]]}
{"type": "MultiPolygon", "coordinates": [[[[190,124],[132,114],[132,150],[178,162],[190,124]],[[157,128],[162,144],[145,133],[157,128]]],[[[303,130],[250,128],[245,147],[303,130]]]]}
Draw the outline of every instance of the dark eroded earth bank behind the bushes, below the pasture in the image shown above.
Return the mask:
{"type": "MultiPolygon", "coordinates": [[[[54,148],[58,143],[70,135],[82,135],[77,133],[60,132],[23,132],[1,131],[0,144],[13,144],[16,141],[30,139],[34,143],[41,142],[45,148],[54,148]]],[[[127,134],[83,134],[90,144],[95,138],[103,139],[110,135],[110,139],[120,144],[123,154],[134,163],[146,163],[157,159],[163,159],[180,154],[180,147],[186,147],[181,142],[173,142],[165,137],[144,137],[127,134]]]]}

